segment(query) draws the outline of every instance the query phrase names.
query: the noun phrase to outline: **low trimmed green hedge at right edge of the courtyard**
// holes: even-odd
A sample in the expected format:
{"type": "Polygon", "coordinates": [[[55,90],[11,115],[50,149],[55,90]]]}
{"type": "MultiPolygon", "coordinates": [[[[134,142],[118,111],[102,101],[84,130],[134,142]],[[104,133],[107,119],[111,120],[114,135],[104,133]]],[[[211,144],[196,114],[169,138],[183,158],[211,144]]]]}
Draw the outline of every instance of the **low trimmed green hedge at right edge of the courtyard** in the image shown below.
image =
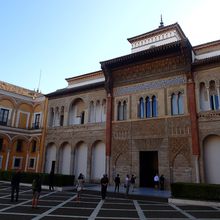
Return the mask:
{"type": "Polygon", "coordinates": [[[174,198],[220,201],[220,185],[205,183],[172,183],[171,194],[174,198]]]}

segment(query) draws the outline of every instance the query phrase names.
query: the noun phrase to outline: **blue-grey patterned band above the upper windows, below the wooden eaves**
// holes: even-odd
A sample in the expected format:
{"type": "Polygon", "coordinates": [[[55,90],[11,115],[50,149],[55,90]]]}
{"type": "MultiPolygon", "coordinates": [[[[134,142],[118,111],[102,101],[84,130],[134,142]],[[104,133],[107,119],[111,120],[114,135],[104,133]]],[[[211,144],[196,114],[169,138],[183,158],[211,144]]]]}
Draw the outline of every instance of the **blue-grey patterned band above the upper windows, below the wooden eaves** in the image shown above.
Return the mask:
{"type": "Polygon", "coordinates": [[[127,94],[133,94],[143,92],[152,89],[162,89],[170,86],[177,86],[186,83],[184,76],[176,76],[174,78],[162,79],[158,81],[145,82],[138,85],[118,87],[114,89],[114,96],[122,96],[127,94]]]}

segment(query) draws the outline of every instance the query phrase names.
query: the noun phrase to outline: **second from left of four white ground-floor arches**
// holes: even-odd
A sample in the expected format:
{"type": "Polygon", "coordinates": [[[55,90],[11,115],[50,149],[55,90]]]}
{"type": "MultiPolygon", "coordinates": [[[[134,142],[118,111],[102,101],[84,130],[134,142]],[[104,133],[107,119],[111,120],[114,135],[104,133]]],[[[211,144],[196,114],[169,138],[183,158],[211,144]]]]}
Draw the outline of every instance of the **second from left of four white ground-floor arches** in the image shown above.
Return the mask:
{"type": "Polygon", "coordinates": [[[70,175],[71,147],[64,143],[59,150],[59,173],[70,175]]]}

